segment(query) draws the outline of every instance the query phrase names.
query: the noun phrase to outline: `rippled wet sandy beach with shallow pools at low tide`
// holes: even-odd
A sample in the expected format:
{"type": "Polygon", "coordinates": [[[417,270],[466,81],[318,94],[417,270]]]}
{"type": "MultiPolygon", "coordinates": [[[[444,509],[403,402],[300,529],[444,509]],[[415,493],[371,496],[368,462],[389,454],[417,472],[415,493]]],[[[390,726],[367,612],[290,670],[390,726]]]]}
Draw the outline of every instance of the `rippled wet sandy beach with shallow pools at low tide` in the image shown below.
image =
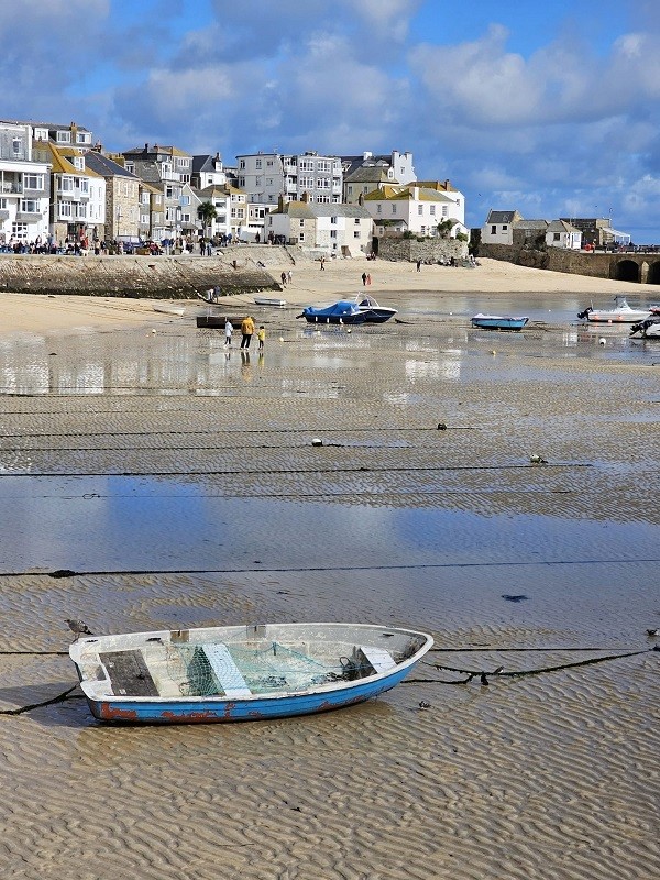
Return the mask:
{"type": "Polygon", "coordinates": [[[0,877],[651,880],[660,345],[575,312],[658,289],[326,265],[285,309],[219,307],[265,324],[262,356],[199,301],[0,294],[0,877]],[[363,271],[398,322],[296,320],[363,271]],[[495,308],[528,328],[470,327],[495,308]],[[36,705],[75,685],[67,617],[436,647],[348,710],[120,727],[76,691],[36,705]]]}

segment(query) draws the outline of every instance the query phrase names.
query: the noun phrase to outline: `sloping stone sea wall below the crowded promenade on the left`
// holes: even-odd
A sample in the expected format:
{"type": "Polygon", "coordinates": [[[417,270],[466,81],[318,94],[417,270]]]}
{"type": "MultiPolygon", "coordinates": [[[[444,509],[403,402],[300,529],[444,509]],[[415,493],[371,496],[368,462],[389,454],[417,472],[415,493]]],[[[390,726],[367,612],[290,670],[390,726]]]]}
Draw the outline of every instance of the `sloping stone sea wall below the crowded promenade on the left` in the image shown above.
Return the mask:
{"type": "Polygon", "coordinates": [[[189,299],[215,286],[227,295],[279,290],[267,266],[295,265],[292,250],[245,245],[204,257],[0,254],[0,292],[189,299]]]}

